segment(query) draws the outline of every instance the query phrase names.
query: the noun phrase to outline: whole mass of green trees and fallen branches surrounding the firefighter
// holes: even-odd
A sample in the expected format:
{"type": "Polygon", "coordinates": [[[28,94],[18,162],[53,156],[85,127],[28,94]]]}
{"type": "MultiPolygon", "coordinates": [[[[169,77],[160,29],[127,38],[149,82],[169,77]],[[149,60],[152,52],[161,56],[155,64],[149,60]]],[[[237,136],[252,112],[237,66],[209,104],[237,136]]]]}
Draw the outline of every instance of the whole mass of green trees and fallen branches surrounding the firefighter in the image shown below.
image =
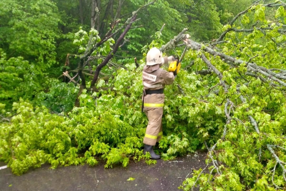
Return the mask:
{"type": "Polygon", "coordinates": [[[158,151],[166,160],[197,150],[208,157],[180,189],[285,190],[285,7],[1,0],[0,160],[16,175],[44,163],[156,163],[142,151],[146,52],[180,56],[188,46],[164,90],[158,151]]]}

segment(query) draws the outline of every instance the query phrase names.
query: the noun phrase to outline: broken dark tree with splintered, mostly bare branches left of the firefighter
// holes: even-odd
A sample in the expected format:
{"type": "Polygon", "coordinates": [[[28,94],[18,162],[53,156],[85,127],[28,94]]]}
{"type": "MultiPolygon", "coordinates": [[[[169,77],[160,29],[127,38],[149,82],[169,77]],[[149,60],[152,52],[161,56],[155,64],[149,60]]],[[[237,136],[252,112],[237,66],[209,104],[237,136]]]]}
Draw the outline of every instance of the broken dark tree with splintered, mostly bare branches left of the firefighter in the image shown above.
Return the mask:
{"type": "MultiPolygon", "coordinates": [[[[146,3],[142,6],[140,6],[136,11],[132,12],[132,15],[124,21],[124,23],[120,26],[118,26],[118,23],[120,23],[121,19],[114,18],[114,22],[110,23],[110,29],[107,31],[105,35],[100,35],[99,32],[95,29],[96,27],[96,21],[98,20],[99,16],[99,9],[97,5],[97,1],[92,1],[91,6],[91,30],[90,33],[87,34],[86,31],[79,31],[78,36],[80,37],[80,40],[77,40],[79,42],[79,45],[81,45],[81,51],[82,54],[68,54],[67,60],[65,63],[65,66],[68,66],[69,59],[74,57],[79,57],[78,61],[78,68],[76,70],[73,70],[76,73],[74,74],[74,77],[71,78],[67,76],[68,71],[64,72],[63,75],[59,76],[67,76],[69,77],[70,81],[73,81],[74,78],[79,76],[80,80],[80,90],[78,93],[78,97],[82,93],[83,89],[86,89],[86,75],[93,76],[91,83],[90,83],[90,89],[92,91],[96,91],[96,82],[98,81],[100,71],[104,66],[107,64],[112,64],[112,57],[116,52],[118,51],[118,48],[122,46],[125,41],[124,37],[126,36],[127,32],[130,30],[132,24],[139,19],[136,19],[137,13],[144,9],[145,7],[148,7],[149,5],[152,5],[157,0],[150,1],[149,3],[146,3]],[[123,30],[123,31],[122,31],[123,30]],[[121,33],[121,34],[120,34],[121,33]],[[120,35],[119,35],[120,34],[120,35]],[[117,37],[119,35],[119,37],[117,37]],[[84,41],[84,38],[88,38],[87,44],[81,43],[80,41],[84,41]],[[114,40],[115,39],[115,40],[114,40]],[[104,54],[105,56],[102,56],[104,54]],[[98,62],[100,62],[98,64],[98,62]],[[89,72],[85,73],[84,69],[86,69],[86,66],[89,66],[89,72]]],[[[122,4],[122,2],[120,2],[122,4]]],[[[121,6],[121,5],[120,5],[121,6]]],[[[107,10],[106,10],[107,11],[107,10]]],[[[102,22],[103,24],[104,22],[102,22]]],[[[102,25],[103,26],[103,25],[102,25]]],[[[101,26],[101,28],[102,28],[101,26]]],[[[114,64],[113,64],[114,65],[114,64]]],[[[122,66],[124,67],[124,66],[122,66]]],[[[108,78],[108,76],[104,76],[104,78],[108,78]]],[[[77,82],[74,82],[77,84],[77,82]]],[[[76,99],[76,106],[79,106],[79,99],[76,99]]]]}

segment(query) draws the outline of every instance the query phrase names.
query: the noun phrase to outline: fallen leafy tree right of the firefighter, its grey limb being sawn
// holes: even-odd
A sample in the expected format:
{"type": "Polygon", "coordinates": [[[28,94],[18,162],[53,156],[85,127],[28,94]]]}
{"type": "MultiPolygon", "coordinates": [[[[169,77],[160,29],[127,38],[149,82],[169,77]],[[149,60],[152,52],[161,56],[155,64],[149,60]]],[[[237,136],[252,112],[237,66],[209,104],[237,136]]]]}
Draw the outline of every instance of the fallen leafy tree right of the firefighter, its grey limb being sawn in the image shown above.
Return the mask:
{"type": "MultiPolygon", "coordinates": [[[[194,65],[204,64],[212,71],[201,79],[209,78],[205,88],[210,90],[202,99],[209,100],[210,95],[222,98],[225,125],[215,134],[206,131],[217,140],[204,141],[206,166],[192,172],[192,178],[186,177],[181,187],[184,190],[196,186],[200,190],[285,190],[286,25],[279,19],[267,20],[265,7],[279,7],[275,18],[285,16],[282,1],[257,1],[234,17],[215,42],[188,40],[187,46],[192,49],[188,55],[197,56],[194,65]],[[249,22],[252,12],[256,22],[242,28],[241,23],[244,19],[249,22]],[[217,85],[212,85],[210,76],[214,75],[217,85]],[[218,91],[213,95],[215,89],[218,91]]],[[[176,46],[185,38],[186,30],[162,50],[176,46]]]]}

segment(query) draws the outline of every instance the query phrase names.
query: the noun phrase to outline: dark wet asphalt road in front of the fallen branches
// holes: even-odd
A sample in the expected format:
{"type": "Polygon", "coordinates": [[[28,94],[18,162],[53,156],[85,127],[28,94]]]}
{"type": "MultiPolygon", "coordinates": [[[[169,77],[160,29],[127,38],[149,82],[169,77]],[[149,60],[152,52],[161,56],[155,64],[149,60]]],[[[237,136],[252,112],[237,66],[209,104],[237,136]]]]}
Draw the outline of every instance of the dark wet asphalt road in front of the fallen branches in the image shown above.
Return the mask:
{"type": "MultiPolygon", "coordinates": [[[[204,167],[206,153],[196,153],[175,160],[157,160],[147,165],[144,161],[130,162],[123,168],[104,168],[104,162],[89,165],[49,169],[49,165],[15,176],[10,168],[0,170],[1,191],[174,191],[178,190],[192,169],[204,167]],[[130,177],[133,181],[127,181],[130,177]]],[[[4,166],[0,163],[0,166],[4,166]]]]}

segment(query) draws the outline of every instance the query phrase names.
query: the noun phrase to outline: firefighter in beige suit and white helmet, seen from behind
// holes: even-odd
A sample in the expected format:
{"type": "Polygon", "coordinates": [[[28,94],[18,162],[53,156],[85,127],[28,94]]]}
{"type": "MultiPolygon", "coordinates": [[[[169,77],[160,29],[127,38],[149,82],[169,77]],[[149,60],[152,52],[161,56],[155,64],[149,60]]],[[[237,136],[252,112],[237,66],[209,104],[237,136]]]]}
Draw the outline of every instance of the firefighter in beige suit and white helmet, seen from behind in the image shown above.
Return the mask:
{"type": "Polygon", "coordinates": [[[144,154],[150,152],[152,159],[161,156],[154,153],[153,146],[162,138],[162,115],[164,106],[164,86],[173,83],[176,71],[168,72],[160,66],[174,61],[174,56],[162,57],[162,52],[151,48],[146,56],[146,65],[143,68],[143,96],[142,111],[148,118],[148,126],[144,136],[144,154]]]}

